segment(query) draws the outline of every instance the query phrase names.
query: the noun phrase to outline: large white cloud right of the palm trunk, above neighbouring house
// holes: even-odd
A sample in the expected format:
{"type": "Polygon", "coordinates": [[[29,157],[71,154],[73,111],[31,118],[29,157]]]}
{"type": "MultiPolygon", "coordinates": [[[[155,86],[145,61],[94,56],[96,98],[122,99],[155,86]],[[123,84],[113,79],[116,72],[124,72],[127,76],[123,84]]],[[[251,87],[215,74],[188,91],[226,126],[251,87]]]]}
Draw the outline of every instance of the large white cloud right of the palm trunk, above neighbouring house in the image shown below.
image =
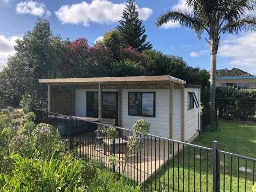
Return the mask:
{"type": "Polygon", "coordinates": [[[231,57],[232,67],[242,67],[249,73],[256,74],[256,32],[240,37],[229,36],[222,41],[218,49],[220,57],[231,57]]]}

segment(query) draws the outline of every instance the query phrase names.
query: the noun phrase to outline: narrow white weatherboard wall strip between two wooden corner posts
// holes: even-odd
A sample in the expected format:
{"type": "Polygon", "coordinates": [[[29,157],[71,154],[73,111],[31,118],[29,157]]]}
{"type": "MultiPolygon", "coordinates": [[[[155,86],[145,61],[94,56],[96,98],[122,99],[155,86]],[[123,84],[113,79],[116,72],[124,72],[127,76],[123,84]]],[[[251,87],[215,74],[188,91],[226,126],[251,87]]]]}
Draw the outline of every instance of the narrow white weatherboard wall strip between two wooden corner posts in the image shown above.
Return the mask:
{"type": "Polygon", "coordinates": [[[174,140],[181,141],[181,91],[182,89],[174,89],[173,91],[173,132],[174,140]]]}

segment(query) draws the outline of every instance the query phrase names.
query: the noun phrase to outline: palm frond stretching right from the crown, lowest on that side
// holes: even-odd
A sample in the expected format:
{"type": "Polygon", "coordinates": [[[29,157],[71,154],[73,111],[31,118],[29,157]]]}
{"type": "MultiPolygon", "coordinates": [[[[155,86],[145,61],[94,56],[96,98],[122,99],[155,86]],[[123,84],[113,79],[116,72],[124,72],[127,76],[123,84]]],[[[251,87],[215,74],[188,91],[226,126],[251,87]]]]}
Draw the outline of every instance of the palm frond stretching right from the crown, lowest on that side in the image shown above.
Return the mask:
{"type": "Polygon", "coordinates": [[[256,31],[256,17],[247,16],[236,21],[230,21],[220,29],[220,33],[238,33],[249,30],[256,31]]]}

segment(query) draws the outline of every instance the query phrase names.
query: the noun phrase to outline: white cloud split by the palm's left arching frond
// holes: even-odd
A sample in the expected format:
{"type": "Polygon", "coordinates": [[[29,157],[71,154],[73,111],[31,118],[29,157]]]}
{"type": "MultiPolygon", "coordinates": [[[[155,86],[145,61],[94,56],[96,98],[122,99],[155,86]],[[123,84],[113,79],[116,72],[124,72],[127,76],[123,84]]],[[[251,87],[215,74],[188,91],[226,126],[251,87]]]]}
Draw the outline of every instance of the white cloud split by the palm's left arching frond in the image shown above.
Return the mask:
{"type": "MultiPolygon", "coordinates": [[[[171,10],[177,10],[177,9],[186,10],[189,12],[193,11],[193,9],[191,7],[188,7],[188,5],[186,4],[186,0],[178,0],[178,3],[173,5],[171,8],[171,10]]],[[[177,22],[168,21],[167,23],[161,25],[161,28],[163,29],[180,28],[180,24],[177,22]]]]}

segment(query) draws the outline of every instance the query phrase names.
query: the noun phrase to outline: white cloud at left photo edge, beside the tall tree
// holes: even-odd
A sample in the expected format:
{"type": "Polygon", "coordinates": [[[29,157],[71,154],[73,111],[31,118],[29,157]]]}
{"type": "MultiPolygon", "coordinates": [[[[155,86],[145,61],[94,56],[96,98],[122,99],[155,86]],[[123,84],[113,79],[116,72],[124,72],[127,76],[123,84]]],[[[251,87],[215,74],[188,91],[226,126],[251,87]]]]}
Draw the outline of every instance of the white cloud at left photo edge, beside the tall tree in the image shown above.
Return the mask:
{"type": "Polygon", "coordinates": [[[16,44],[16,39],[22,39],[22,37],[11,36],[6,38],[5,36],[0,35],[0,71],[6,66],[8,56],[15,54],[13,46],[16,44]]]}

